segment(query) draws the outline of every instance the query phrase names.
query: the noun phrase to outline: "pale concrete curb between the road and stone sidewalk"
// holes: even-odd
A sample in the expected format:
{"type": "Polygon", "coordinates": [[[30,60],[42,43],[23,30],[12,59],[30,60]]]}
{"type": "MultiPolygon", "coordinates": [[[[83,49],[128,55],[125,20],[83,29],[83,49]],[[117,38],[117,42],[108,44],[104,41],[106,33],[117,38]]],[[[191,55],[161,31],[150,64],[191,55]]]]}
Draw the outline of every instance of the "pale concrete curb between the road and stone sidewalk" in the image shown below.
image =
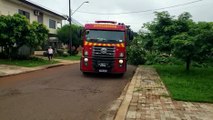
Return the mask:
{"type": "Polygon", "coordinates": [[[136,78],[137,78],[137,74],[139,72],[139,69],[140,68],[137,67],[135,74],[134,74],[134,76],[133,76],[133,78],[132,78],[132,80],[131,80],[131,82],[128,86],[127,91],[126,91],[126,95],[124,97],[124,100],[122,101],[114,120],[125,120],[125,118],[126,118],[126,114],[127,114],[130,102],[132,100],[134,86],[135,86],[135,83],[136,83],[136,78]]]}

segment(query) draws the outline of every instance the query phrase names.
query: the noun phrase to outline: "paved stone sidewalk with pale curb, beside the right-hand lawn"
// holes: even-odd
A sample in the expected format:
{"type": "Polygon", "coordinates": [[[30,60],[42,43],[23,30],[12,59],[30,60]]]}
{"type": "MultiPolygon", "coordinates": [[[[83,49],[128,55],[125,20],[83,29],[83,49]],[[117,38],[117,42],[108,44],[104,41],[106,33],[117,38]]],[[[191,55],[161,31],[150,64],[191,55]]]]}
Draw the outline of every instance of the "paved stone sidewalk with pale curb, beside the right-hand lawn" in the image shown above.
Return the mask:
{"type": "Polygon", "coordinates": [[[213,104],[172,100],[157,72],[139,67],[115,119],[213,120],[213,104]]]}

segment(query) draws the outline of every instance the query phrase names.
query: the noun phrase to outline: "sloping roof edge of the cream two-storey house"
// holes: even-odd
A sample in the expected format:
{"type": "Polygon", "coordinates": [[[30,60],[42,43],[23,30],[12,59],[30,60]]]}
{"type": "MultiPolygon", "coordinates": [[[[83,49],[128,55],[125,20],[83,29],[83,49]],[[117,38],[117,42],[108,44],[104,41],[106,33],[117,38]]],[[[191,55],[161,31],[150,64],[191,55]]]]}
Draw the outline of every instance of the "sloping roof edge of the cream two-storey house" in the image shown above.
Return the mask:
{"type": "Polygon", "coordinates": [[[22,3],[24,3],[24,4],[27,4],[27,5],[29,5],[29,6],[32,6],[32,7],[41,9],[41,10],[43,10],[43,11],[45,11],[45,12],[51,13],[51,14],[56,15],[56,16],[58,16],[58,17],[61,17],[62,19],[67,19],[65,15],[61,15],[61,14],[59,14],[59,13],[57,13],[57,12],[54,12],[54,11],[52,11],[52,10],[49,10],[49,9],[43,7],[43,6],[40,6],[40,5],[35,4],[35,3],[33,3],[33,2],[30,2],[29,0],[18,0],[18,1],[20,1],[20,2],[22,2],[22,3]]]}

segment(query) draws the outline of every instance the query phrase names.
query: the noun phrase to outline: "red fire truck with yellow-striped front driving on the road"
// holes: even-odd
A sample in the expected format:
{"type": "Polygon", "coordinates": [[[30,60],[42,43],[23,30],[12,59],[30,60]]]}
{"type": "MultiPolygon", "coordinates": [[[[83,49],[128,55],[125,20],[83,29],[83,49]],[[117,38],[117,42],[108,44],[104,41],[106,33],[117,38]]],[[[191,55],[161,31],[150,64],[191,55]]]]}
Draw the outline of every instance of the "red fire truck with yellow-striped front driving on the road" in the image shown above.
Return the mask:
{"type": "Polygon", "coordinates": [[[133,32],[123,23],[95,21],[82,32],[83,49],[80,69],[85,73],[124,74],[127,69],[126,46],[133,32]]]}

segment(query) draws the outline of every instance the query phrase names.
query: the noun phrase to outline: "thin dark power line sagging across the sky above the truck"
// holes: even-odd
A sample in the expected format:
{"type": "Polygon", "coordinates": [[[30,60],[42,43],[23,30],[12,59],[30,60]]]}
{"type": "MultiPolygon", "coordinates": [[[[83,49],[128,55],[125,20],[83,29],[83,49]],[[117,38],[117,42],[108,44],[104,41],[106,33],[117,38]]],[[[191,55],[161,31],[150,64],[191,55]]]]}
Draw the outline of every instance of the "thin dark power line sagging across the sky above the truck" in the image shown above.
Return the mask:
{"type": "Polygon", "coordinates": [[[124,14],[137,14],[137,13],[146,13],[146,12],[152,12],[152,11],[157,11],[157,10],[164,10],[164,9],[171,9],[171,8],[176,8],[176,7],[182,7],[182,6],[194,4],[194,3],[197,3],[197,2],[201,2],[201,1],[203,1],[203,0],[195,0],[195,1],[192,1],[192,2],[187,2],[187,3],[172,5],[172,6],[168,6],[168,7],[150,9],[150,10],[132,11],[132,12],[122,12],[122,13],[99,13],[99,12],[85,12],[85,11],[77,11],[77,12],[79,12],[79,13],[85,13],[85,14],[92,14],[92,15],[124,15],[124,14]]]}

